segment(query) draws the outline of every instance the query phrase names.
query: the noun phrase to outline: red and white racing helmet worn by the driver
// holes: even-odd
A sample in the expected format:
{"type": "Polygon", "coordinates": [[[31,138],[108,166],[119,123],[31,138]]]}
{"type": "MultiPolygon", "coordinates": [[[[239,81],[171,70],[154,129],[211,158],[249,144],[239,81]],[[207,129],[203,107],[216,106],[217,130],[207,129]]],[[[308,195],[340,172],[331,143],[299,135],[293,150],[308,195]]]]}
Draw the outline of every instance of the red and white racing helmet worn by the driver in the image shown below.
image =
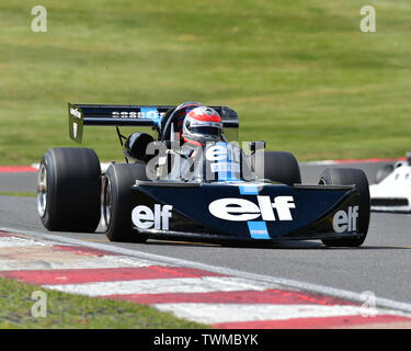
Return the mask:
{"type": "Polygon", "coordinates": [[[205,145],[207,141],[218,141],[221,133],[221,116],[212,107],[195,107],[185,115],[183,139],[186,143],[205,145]]]}

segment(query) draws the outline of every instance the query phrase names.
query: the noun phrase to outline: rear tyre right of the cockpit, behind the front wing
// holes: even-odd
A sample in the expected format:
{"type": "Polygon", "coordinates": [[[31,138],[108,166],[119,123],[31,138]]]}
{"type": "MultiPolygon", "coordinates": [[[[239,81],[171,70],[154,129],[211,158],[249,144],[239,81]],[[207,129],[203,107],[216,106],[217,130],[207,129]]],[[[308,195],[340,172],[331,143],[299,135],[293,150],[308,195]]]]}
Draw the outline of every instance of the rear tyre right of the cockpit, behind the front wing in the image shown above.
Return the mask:
{"type": "Polygon", "coordinates": [[[255,165],[255,173],[260,178],[287,185],[301,183],[298,162],[290,152],[264,151],[264,171],[255,165]]]}

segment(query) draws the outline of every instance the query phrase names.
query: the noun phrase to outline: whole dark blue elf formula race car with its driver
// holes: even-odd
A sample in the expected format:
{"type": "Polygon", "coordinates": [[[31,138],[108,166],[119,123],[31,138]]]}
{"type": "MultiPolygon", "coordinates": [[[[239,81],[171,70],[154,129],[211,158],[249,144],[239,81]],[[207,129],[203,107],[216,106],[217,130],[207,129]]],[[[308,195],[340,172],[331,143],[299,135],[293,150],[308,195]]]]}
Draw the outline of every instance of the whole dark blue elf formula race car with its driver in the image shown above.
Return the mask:
{"type": "Polygon", "coordinates": [[[370,204],[357,169],[327,169],[301,184],[295,157],[237,139],[227,106],[69,104],[70,137],[87,125],[114,126],[125,162],[102,170],[94,150],[53,148],[42,159],[37,207],[49,230],[95,231],[112,241],[149,238],[271,242],[320,239],[361,246],[370,204]],[[150,133],[124,136],[124,126],[150,133]]]}

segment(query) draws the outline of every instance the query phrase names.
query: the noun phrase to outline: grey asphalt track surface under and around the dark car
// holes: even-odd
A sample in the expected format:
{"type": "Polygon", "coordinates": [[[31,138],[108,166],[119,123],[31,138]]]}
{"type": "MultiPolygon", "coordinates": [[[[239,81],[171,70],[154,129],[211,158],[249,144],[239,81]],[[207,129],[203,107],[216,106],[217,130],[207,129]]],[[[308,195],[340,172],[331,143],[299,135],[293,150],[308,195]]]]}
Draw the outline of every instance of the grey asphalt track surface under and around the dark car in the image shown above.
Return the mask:
{"type": "MultiPolygon", "coordinates": [[[[317,183],[328,167],[361,168],[373,183],[381,163],[301,165],[302,182],[317,183]]],[[[36,173],[0,174],[0,192],[33,192],[35,184],[36,173]]],[[[102,231],[53,235],[357,294],[372,292],[378,298],[411,304],[410,224],[410,215],[373,213],[367,239],[359,248],[327,248],[320,241],[288,241],[260,247],[159,240],[139,245],[109,242],[102,231]]],[[[0,227],[52,234],[44,229],[33,197],[0,196],[0,227]]]]}

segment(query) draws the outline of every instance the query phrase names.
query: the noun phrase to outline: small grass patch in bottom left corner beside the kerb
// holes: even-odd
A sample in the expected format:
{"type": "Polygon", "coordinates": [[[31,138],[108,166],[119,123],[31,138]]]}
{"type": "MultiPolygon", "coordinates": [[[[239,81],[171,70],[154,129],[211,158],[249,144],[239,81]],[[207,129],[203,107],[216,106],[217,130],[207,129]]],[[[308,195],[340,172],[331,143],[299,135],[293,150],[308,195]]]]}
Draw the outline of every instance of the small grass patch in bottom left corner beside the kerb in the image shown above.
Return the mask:
{"type": "Polygon", "coordinates": [[[208,326],[175,318],[130,302],[65,294],[0,278],[0,329],[193,329],[208,326]],[[46,294],[46,316],[33,317],[37,299],[46,294]]]}

